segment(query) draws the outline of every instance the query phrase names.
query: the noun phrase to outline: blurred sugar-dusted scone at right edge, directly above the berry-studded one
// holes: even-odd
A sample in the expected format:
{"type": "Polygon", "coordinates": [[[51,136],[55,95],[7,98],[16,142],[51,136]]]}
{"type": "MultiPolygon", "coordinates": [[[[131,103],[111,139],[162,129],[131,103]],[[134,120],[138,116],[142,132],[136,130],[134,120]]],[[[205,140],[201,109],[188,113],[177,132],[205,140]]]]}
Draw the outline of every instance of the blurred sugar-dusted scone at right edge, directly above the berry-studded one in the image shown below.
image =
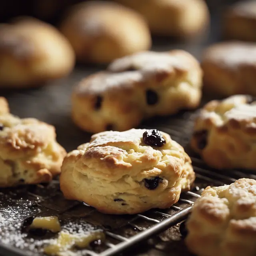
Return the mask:
{"type": "Polygon", "coordinates": [[[207,48],[202,58],[204,88],[224,96],[256,96],[256,44],[224,42],[207,48]]]}

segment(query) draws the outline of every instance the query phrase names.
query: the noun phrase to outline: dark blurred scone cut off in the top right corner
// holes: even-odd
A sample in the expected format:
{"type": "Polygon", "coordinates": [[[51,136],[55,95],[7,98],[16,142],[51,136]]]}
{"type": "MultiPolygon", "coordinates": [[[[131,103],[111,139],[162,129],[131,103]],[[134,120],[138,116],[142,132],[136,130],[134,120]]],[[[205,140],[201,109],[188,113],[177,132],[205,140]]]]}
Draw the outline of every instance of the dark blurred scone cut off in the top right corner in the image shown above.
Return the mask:
{"type": "Polygon", "coordinates": [[[224,36],[256,42],[256,1],[237,2],[224,15],[224,36]]]}

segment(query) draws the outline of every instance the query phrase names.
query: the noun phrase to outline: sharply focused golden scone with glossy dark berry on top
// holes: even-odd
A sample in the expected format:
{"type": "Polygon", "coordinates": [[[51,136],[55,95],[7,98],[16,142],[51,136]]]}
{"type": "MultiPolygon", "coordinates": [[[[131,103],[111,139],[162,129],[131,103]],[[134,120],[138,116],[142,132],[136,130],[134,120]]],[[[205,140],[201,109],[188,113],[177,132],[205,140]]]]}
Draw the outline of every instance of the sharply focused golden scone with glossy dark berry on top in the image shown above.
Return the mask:
{"type": "Polygon", "coordinates": [[[195,175],[182,146],[158,130],[132,129],[94,134],[68,153],[60,188],[107,214],[136,214],[168,208],[195,175]]]}

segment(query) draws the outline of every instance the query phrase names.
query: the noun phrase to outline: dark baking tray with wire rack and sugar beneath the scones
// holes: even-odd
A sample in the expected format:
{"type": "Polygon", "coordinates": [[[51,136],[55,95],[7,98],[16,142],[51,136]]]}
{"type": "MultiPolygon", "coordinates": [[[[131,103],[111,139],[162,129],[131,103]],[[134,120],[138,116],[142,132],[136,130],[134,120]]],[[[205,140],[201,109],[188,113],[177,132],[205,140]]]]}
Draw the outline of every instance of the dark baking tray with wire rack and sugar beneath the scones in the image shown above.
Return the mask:
{"type": "MultiPolygon", "coordinates": [[[[223,3],[222,3],[223,4],[223,3]]],[[[220,13],[223,8],[218,1],[210,2],[212,23],[209,33],[189,42],[177,42],[172,38],[154,38],[153,50],[184,49],[200,60],[202,48],[220,40],[220,13]]],[[[73,85],[81,78],[99,71],[104,66],[77,65],[67,78],[31,90],[0,91],[10,104],[13,114],[20,117],[35,117],[56,127],[57,139],[67,151],[88,142],[90,135],[78,129],[70,118],[70,94],[73,85]]],[[[210,100],[204,96],[202,104],[210,100]]],[[[192,158],[196,182],[192,193],[182,194],[181,200],[170,209],[150,210],[134,216],[111,216],[97,212],[84,204],[67,201],[59,190],[58,180],[49,185],[23,186],[15,189],[0,189],[0,254],[36,255],[46,243],[45,239],[32,237],[21,232],[21,224],[28,216],[58,215],[62,225],[74,226],[82,223],[84,230],[102,229],[106,241],[100,246],[79,251],[79,255],[190,255],[184,246],[177,224],[186,218],[191,202],[194,202],[201,188],[208,185],[229,184],[238,178],[256,178],[250,172],[233,170],[216,171],[206,166],[189,146],[193,120],[196,111],[182,111],[174,116],[145,120],[140,128],[157,128],[172,136],[192,158]],[[170,217],[171,216],[171,217],[170,217]],[[72,223],[72,224],[70,224],[72,223]],[[171,226],[171,227],[170,227],[171,226]],[[170,227],[170,228],[168,228],[170,227]],[[162,232],[163,230],[166,230],[162,232]],[[160,235],[156,233],[162,232],[160,235]],[[154,236],[152,236],[154,234],[154,236]],[[149,239],[150,238],[150,239],[149,239]],[[134,247],[133,245],[139,245],[134,247]],[[94,251],[94,252],[93,252],[94,251]],[[95,254],[96,253],[96,254],[95,254]]],[[[46,240],[47,241],[47,240],[46,240]]]]}

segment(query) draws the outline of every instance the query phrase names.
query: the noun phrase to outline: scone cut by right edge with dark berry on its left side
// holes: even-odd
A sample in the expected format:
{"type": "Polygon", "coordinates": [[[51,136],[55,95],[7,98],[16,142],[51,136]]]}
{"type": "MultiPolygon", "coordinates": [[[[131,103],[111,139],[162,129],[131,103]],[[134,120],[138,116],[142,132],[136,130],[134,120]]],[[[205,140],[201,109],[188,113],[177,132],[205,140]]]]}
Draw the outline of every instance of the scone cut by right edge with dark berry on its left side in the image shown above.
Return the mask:
{"type": "Polygon", "coordinates": [[[236,95],[213,100],[196,118],[192,148],[209,166],[256,170],[256,101],[236,95]]]}

